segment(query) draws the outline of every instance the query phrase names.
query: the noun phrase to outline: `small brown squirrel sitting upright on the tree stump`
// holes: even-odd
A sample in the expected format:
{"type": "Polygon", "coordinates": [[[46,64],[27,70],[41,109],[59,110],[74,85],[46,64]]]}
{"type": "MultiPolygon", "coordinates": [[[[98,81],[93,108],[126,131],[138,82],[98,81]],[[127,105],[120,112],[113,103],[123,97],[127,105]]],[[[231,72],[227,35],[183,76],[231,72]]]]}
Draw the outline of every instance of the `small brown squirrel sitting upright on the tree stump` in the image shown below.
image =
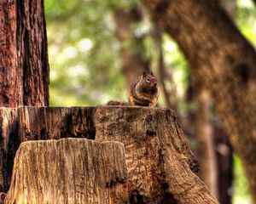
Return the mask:
{"type": "Polygon", "coordinates": [[[129,105],[151,106],[157,104],[160,90],[153,73],[138,77],[129,88],[129,105]]]}

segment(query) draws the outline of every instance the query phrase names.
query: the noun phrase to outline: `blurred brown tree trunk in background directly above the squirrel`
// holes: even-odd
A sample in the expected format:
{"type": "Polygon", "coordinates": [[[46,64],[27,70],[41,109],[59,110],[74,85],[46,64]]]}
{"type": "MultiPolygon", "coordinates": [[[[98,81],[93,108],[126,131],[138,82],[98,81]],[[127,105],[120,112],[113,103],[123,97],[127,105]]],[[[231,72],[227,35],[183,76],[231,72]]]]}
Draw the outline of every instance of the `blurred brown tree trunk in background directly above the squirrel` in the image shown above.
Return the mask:
{"type": "Polygon", "coordinates": [[[121,43],[120,56],[122,69],[125,73],[127,87],[131,86],[143,71],[149,71],[149,59],[145,57],[143,36],[137,37],[132,31],[132,24],[143,20],[142,11],[139,7],[119,8],[114,11],[115,34],[121,43]]]}

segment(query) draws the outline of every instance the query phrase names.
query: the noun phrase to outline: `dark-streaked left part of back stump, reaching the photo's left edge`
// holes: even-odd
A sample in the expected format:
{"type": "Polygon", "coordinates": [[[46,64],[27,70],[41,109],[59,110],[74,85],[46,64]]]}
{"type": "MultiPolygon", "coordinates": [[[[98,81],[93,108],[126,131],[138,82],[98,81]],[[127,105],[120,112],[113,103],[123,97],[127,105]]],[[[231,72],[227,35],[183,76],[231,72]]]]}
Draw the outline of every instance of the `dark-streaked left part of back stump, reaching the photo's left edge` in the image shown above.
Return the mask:
{"type": "Polygon", "coordinates": [[[95,139],[87,108],[0,108],[0,191],[9,190],[15,152],[20,142],[67,137],[95,139]]]}

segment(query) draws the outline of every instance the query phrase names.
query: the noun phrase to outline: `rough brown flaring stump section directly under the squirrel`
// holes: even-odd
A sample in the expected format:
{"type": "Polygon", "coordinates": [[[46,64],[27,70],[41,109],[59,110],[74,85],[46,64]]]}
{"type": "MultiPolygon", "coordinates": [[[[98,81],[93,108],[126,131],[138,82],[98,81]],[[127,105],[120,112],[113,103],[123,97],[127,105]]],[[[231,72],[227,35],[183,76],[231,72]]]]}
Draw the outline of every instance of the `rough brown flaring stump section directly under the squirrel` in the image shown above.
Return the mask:
{"type": "Polygon", "coordinates": [[[125,144],[131,203],[218,203],[196,175],[198,162],[173,111],[102,106],[95,124],[96,140],[125,144]]]}

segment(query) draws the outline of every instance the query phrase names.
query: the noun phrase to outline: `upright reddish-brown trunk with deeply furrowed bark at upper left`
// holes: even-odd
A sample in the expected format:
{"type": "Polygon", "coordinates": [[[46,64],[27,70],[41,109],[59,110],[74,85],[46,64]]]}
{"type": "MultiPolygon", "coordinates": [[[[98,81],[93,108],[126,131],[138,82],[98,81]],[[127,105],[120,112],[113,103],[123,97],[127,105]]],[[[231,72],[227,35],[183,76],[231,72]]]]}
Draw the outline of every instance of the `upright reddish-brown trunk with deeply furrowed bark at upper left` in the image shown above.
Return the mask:
{"type": "Polygon", "coordinates": [[[0,3],[0,106],[49,105],[43,0],[0,3]]]}

